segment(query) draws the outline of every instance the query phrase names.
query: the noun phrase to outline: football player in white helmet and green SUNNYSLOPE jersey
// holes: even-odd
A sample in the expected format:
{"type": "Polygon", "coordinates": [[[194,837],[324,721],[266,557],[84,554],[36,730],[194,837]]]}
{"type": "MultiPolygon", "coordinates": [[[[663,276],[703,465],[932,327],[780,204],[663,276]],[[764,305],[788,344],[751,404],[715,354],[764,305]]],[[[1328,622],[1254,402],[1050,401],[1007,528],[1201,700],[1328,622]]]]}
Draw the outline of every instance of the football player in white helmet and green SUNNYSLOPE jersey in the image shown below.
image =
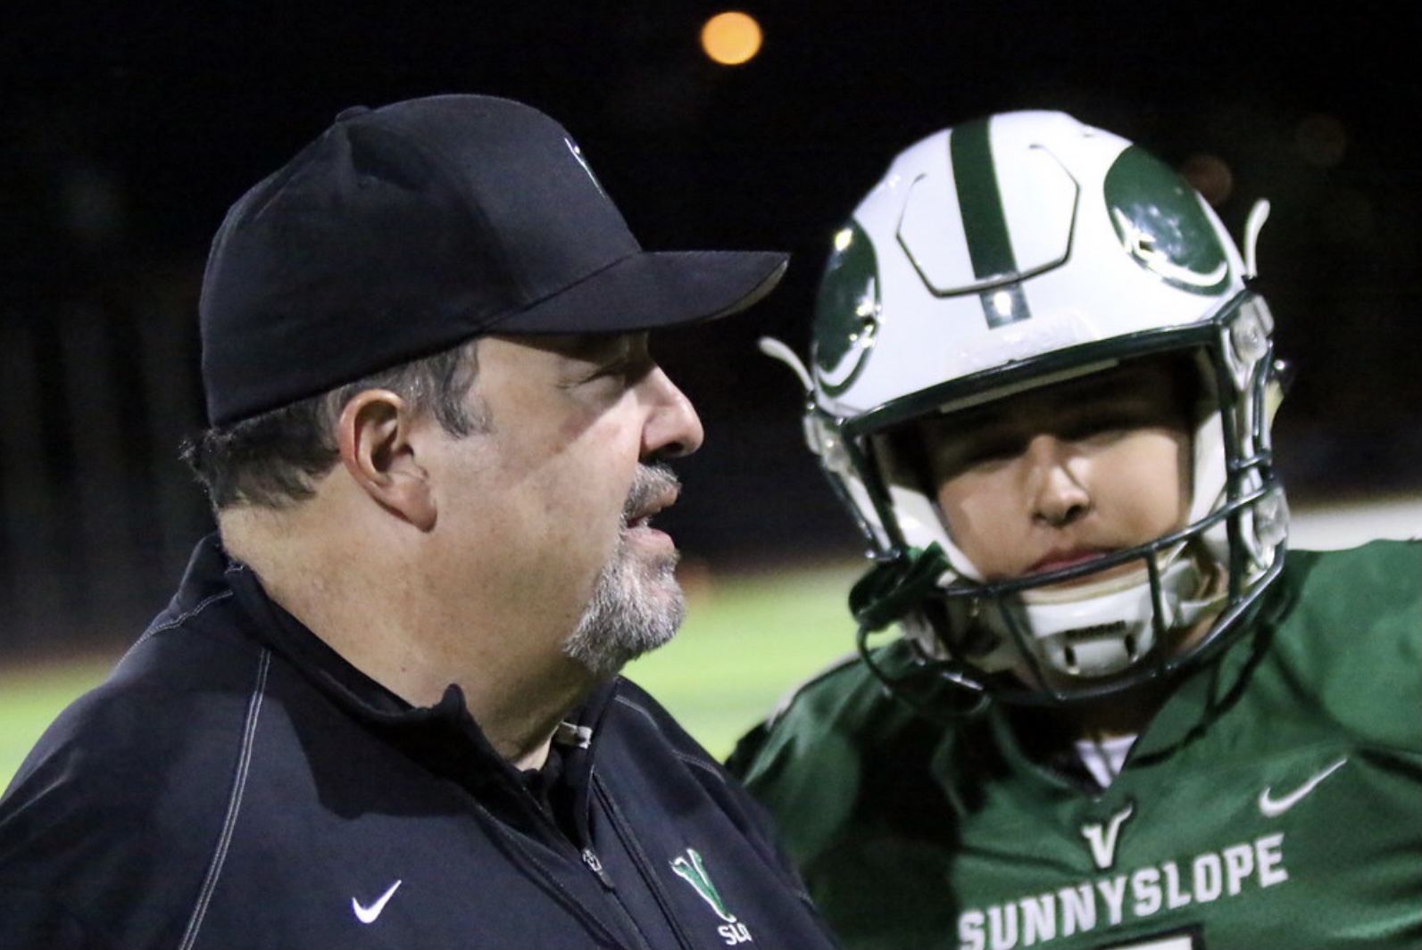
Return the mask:
{"type": "Polygon", "coordinates": [[[1287,550],[1266,214],[966,122],[768,341],[876,564],[732,763],[849,946],[1422,946],[1422,554],[1287,550]]]}

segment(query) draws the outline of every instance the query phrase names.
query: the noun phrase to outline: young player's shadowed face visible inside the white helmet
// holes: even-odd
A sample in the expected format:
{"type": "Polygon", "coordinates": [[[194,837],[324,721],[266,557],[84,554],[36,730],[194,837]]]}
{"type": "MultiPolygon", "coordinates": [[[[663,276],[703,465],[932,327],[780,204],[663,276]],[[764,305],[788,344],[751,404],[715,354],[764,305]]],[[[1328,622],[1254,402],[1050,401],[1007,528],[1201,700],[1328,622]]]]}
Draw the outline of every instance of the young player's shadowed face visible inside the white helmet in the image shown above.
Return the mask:
{"type": "Polygon", "coordinates": [[[926,423],[948,537],[983,579],[1003,581],[1183,528],[1190,508],[1183,389],[1166,364],[1145,361],[926,423]]]}

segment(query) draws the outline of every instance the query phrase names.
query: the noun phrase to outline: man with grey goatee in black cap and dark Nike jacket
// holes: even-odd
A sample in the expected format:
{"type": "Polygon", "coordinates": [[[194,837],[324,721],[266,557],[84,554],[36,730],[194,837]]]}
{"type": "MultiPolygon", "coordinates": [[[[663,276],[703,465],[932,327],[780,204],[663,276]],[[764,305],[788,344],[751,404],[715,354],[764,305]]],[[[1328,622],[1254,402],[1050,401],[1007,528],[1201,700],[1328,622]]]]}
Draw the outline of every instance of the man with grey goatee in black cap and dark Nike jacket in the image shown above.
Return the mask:
{"type": "Polygon", "coordinates": [[[6,947],[828,946],[758,808],[617,679],[683,601],[647,331],[769,253],[643,251],[506,99],[353,109],[205,277],[218,535],[0,802],[6,947]]]}

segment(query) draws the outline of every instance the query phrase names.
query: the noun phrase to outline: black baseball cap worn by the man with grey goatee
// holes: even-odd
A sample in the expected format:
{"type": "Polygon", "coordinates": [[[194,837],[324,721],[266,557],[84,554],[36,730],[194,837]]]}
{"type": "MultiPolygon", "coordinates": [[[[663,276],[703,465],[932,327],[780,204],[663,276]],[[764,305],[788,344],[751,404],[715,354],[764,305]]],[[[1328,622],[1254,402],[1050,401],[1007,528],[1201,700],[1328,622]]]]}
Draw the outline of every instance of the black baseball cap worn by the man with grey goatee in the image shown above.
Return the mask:
{"type": "Polygon", "coordinates": [[[482,334],[630,332],[768,294],[772,251],[644,251],[573,138],[483,95],[341,112],[228,212],[199,317],[225,426],[482,334]]]}

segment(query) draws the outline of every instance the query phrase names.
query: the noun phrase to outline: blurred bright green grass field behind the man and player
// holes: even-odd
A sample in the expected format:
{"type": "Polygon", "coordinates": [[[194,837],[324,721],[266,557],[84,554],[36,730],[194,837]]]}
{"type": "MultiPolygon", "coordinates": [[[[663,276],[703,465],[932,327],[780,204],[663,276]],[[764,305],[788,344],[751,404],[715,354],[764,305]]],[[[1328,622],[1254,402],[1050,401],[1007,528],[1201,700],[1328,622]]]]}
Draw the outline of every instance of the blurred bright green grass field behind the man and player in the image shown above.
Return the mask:
{"type": "MultiPolygon", "coordinates": [[[[857,564],[711,575],[685,564],[687,622],[626,673],[724,758],[796,683],[853,648],[845,596],[857,564]]],[[[0,669],[0,788],[46,726],[117,656],[0,669]]]]}

